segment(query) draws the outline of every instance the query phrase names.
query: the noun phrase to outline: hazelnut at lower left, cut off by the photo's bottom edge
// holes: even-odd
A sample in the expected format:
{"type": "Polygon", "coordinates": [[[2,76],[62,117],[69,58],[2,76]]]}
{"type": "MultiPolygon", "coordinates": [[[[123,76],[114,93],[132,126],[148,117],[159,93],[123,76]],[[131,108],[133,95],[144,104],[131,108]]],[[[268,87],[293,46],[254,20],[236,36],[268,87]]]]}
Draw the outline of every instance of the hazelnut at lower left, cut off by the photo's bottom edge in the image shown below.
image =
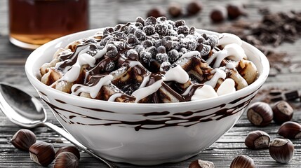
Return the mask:
{"type": "Polygon", "coordinates": [[[70,152],[62,152],[58,154],[57,158],[55,158],[54,168],[76,168],[79,167],[79,159],[70,152]]]}

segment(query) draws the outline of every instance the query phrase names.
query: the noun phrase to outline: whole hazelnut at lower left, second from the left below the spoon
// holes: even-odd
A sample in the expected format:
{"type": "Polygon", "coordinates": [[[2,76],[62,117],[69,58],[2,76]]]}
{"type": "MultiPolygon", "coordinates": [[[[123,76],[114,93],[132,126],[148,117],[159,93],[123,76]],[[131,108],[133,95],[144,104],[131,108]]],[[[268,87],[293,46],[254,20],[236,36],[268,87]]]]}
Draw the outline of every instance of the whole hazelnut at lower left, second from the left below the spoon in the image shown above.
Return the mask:
{"type": "Polygon", "coordinates": [[[37,164],[46,167],[54,160],[55,151],[52,144],[39,141],[30,146],[29,154],[30,159],[37,164]]]}

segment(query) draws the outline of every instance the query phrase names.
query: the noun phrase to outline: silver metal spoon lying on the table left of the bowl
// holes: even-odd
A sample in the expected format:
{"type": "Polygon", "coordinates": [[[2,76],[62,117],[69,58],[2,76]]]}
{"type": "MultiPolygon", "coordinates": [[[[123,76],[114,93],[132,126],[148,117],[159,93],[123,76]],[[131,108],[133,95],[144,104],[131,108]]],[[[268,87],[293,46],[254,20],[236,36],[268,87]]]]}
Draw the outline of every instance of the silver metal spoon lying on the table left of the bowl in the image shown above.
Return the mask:
{"type": "Polygon", "coordinates": [[[20,127],[33,128],[38,126],[47,126],[53,131],[65,137],[68,141],[72,142],[81,150],[98,158],[110,168],[116,168],[111,162],[100,158],[98,155],[90,151],[86,146],[83,146],[79,141],[74,139],[71,134],[67,133],[62,128],[46,122],[47,115],[44,106],[38,99],[32,95],[19,90],[13,85],[7,83],[0,83],[0,109],[8,117],[11,122],[19,125],[20,127]]]}

